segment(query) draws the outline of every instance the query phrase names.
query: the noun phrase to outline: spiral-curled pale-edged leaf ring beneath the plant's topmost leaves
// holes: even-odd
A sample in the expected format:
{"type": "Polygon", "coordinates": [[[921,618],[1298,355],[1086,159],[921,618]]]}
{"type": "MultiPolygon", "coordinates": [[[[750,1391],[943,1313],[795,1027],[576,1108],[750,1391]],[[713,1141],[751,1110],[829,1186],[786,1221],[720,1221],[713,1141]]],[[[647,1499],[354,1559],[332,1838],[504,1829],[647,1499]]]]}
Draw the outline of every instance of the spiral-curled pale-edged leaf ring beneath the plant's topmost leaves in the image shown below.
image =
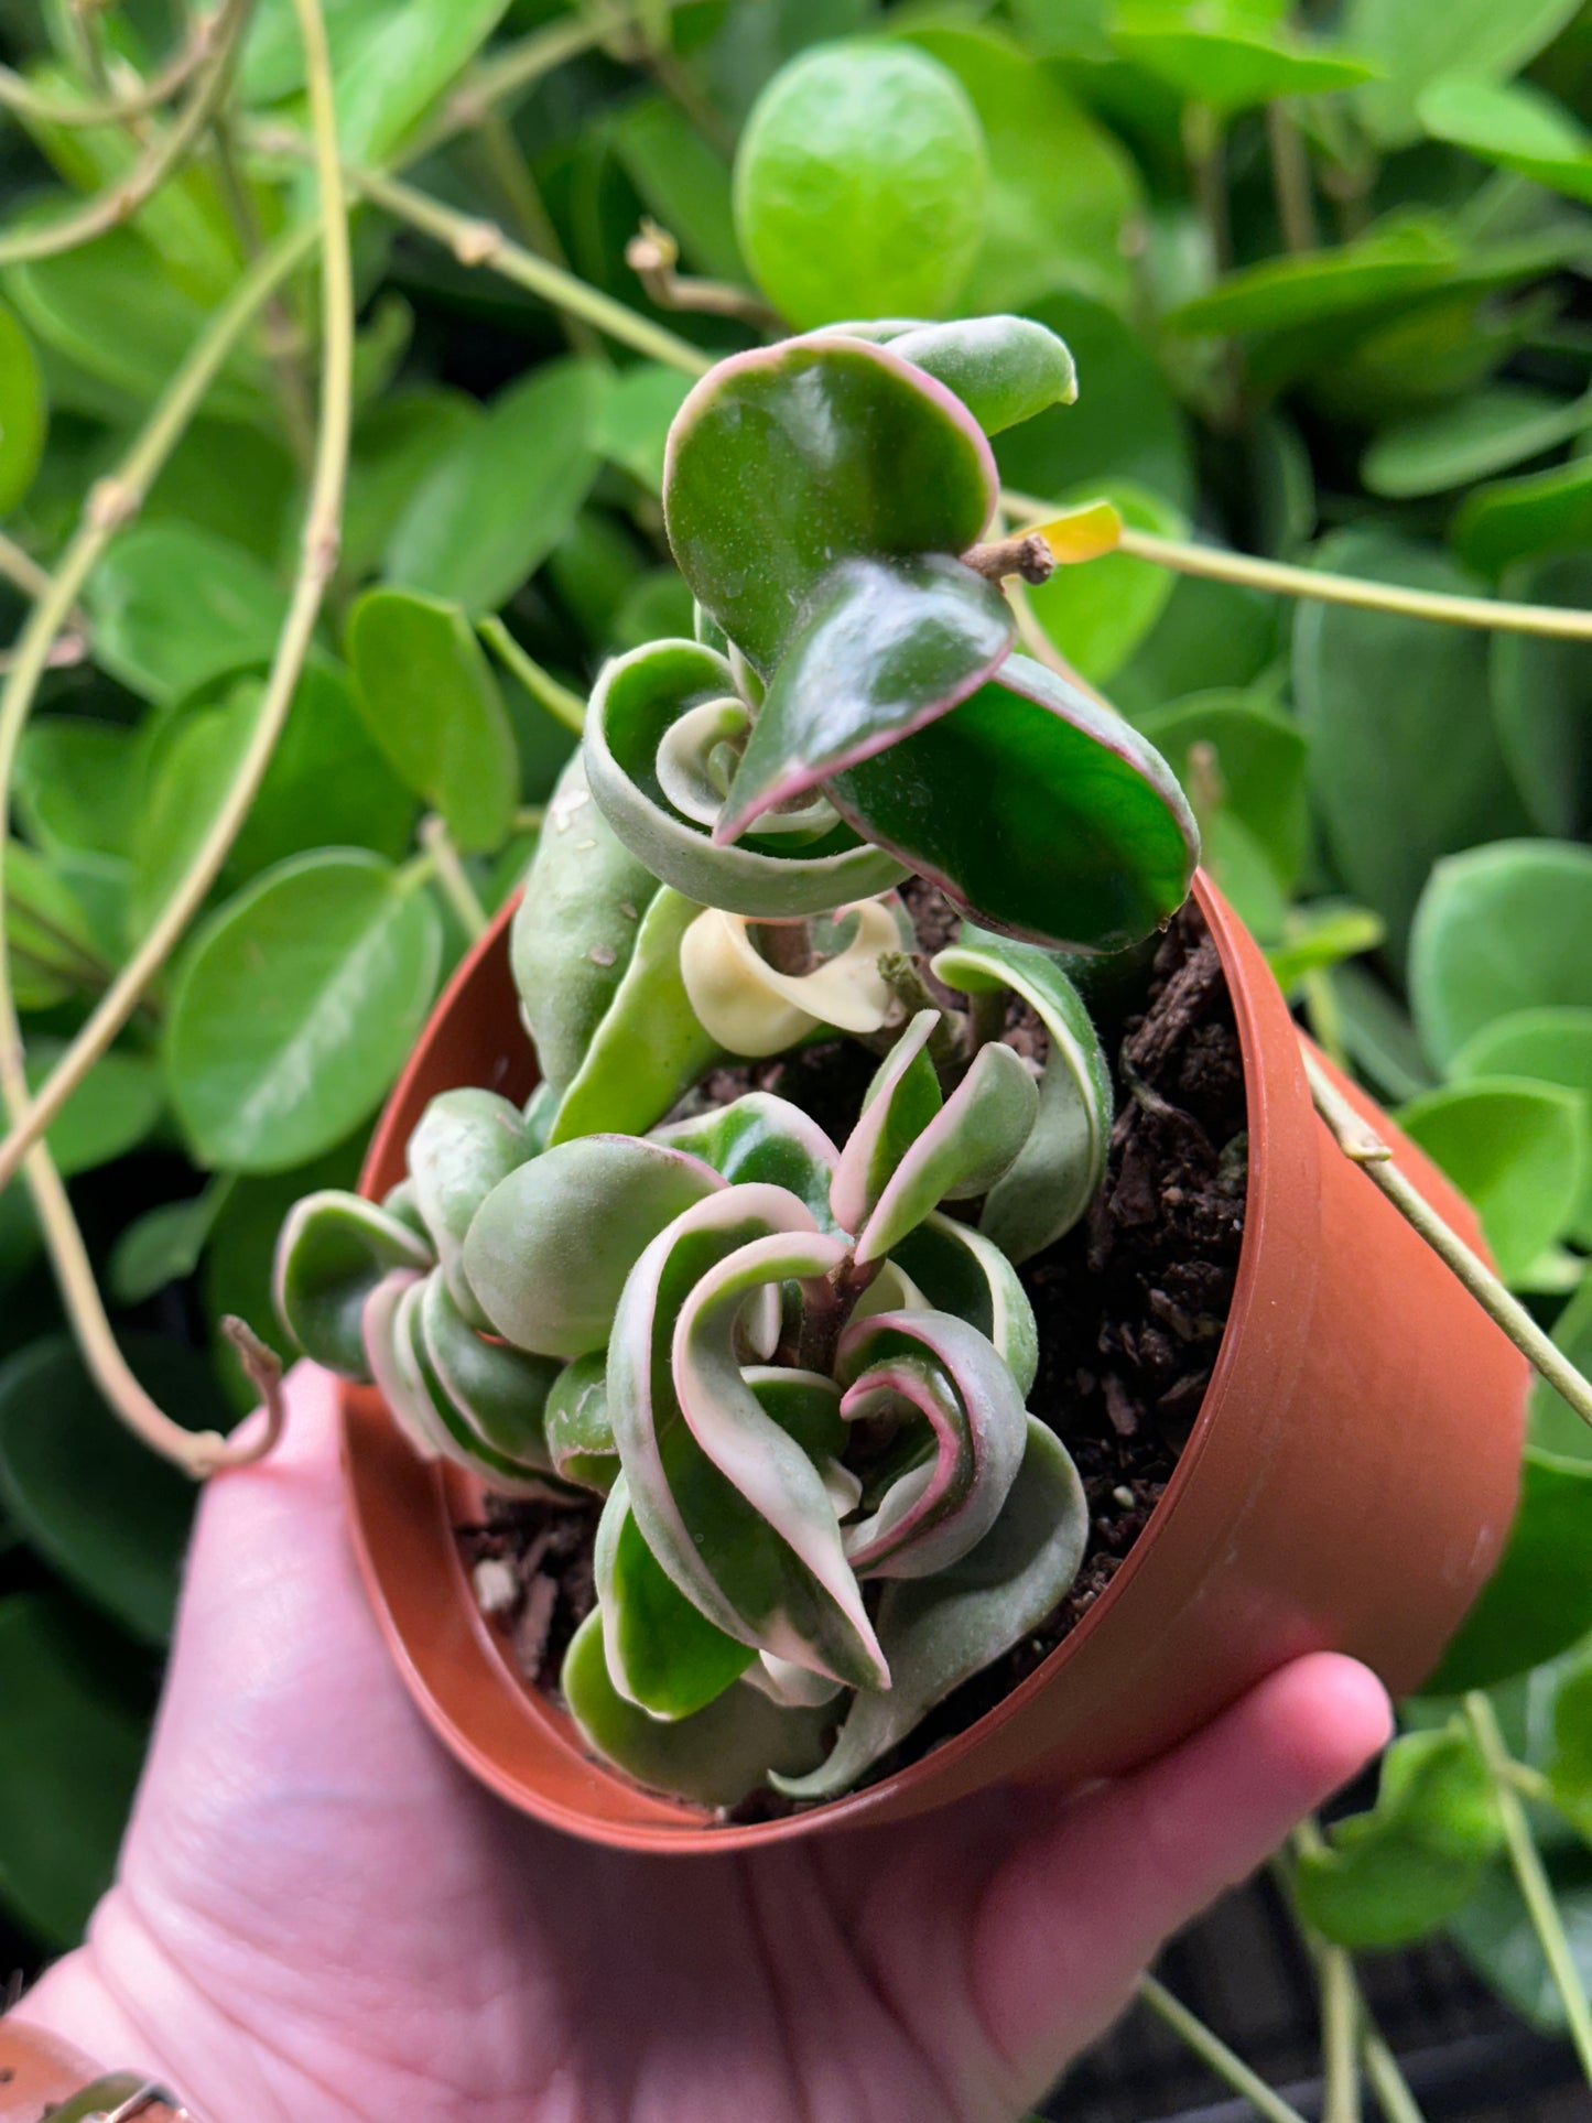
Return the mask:
{"type": "MultiPolygon", "coordinates": [[[[800,845],[781,845],[790,834],[771,836],[764,826],[741,847],[713,845],[724,805],[713,771],[724,771],[728,788],[749,728],[734,686],[730,662],[698,641],[650,641],[603,664],[582,752],[590,790],[624,845],[675,892],[760,919],[824,913],[900,883],[904,866],[858,843],[828,805],[804,815],[800,845]]],[[[790,819],[766,824],[788,828],[790,819]]],[[[526,892],[533,883],[535,866],[526,892]]]]}

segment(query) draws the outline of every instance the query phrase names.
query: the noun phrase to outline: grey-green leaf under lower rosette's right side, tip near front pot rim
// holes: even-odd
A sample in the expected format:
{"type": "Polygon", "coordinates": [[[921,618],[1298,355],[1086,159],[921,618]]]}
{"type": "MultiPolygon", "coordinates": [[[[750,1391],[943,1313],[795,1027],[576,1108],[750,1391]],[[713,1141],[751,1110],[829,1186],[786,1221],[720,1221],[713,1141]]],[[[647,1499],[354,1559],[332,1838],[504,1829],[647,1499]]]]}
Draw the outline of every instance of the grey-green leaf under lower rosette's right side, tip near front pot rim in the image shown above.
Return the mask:
{"type": "Polygon", "coordinates": [[[879,1641],[889,1690],[860,1690],[841,1737],[809,1777],[771,1773],[790,1798],[836,1798],[925,1711],[1008,1652],[1055,1607],[1083,1563],[1089,1505],[1061,1439],[1036,1416],[1006,1509],[962,1563],[938,1577],[885,1586],[879,1641]]]}

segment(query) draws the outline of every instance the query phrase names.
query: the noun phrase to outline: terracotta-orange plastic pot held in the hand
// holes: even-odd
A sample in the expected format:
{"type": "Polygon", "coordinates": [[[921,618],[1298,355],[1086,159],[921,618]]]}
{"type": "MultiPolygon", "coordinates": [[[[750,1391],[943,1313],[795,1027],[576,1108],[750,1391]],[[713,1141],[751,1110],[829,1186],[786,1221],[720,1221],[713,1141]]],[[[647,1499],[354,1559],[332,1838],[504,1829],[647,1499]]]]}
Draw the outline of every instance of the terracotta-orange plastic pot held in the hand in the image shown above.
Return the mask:
{"type": "MultiPolygon", "coordinates": [[[[1199,1420],[1080,1626],[898,1775],[790,1819],[717,1828],[590,1760],[475,1607],[452,1529],[480,1490],[422,1465],[374,1391],[346,1391],[348,1503],[382,1630],[427,1720],[509,1805],[599,1843],[724,1851],[900,1819],[987,1783],[1131,1768],[1301,1652],[1352,1652],[1395,1694],[1433,1669],[1509,1531],[1526,1365],[1337,1151],[1265,960],[1204,877],[1197,898],[1238,1013],[1250,1129],[1238,1289],[1199,1420]]],[[[535,1083],[507,915],[437,1004],[371,1142],[367,1195],[403,1176],[427,1100],[465,1083],[516,1100],[535,1083]]],[[[1378,1125],[1475,1244],[1458,1195],[1378,1125]]]]}

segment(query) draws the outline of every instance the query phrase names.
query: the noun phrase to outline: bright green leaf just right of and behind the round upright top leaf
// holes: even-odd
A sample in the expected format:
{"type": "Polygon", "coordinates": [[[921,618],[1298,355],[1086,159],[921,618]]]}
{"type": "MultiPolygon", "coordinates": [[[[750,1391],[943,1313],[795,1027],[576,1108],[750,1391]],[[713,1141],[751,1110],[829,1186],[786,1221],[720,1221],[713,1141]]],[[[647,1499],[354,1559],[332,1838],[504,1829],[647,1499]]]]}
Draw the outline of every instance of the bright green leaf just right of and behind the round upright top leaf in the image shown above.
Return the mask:
{"type": "MultiPolygon", "coordinates": [[[[1032,304],[1055,287],[1125,306],[1123,234],[1142,189],[1117,138],[1008,36],[962,23],[913,25],[906,36],[957,76],[989,142],[983,244],[959,308],[1027,310],[1053,323],[1032,304]]],[[[858,308],[879,314],[883,304],[858,308]]]]}

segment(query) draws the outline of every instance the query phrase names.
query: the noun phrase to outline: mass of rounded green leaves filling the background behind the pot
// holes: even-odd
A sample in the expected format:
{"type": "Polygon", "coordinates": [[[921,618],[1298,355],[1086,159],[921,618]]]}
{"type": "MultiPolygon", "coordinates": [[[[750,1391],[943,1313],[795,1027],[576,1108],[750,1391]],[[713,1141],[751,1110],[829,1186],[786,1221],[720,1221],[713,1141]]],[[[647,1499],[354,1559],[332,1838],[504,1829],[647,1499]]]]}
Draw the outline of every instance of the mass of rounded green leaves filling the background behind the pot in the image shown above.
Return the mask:
{"type": "MultiPolygon", "coordinates": [[[[210,45],[176,0],[0,0],[21,70],[0,74],[6,635],[172,372],[312,214],[289,0],[214,21],[214,110],[140,204],[117,187],[183,100],[91,125],[59,106],[185,51],[197,98],[210,45]],[[113,210],[40,246],[68,195],[113,210]]],[[[1055,327],[1080,401],[998,442],[1044,503],[1106,495],[1150,539],[1371,584],[1592,592],[1575,0],[329,0],[327,25],[359,295],[338,567],[204,907],[49,1129],[127,1352],[195,1429],[253,1399],[214,1323],[270,1331],[280,1216],[352,1183],[437,983],[524,866],[599,662],[690,631],[664,429],[690,369],[775,310],[1055,327]],[[804,57],[834,38],[866,42],[804,57]],[[934,121],[892,159],[877,98],[902,76],[934,121]],[[414,191],[374,174],[393,168],[414,191]],[[667,238],[639,278],[643,219],[667,238]]],[[[108,539],[21,735],[4,892],[34,1089],[214,845],[270,707],[316,420],[312,248],[108,539]]],[[[1144,550],[1059,569],[1029,641],[1167,752],[1316,1036],[1403,1108],[1586,1365],[1592,648],[1295,605],[1144,550]]],[[[113,1427],[19,1183],[0,1289],[0,1900],[53,1947],[115,1851],[191,1495],[113,1427]]],[[[1437,1686],[1494,1692],[1592,1966],[1592,1442],[1545,1388],[1533,1439],[1511,1554],[1437,1686]]],[[[1416,1751],[1375,1815],[1301,1856],[1301,1896],[1346,1945],[1446,1923],[1560,2025],[1486,1732],[1454,1709],[1412,1707],[1416,1751]]]]}

